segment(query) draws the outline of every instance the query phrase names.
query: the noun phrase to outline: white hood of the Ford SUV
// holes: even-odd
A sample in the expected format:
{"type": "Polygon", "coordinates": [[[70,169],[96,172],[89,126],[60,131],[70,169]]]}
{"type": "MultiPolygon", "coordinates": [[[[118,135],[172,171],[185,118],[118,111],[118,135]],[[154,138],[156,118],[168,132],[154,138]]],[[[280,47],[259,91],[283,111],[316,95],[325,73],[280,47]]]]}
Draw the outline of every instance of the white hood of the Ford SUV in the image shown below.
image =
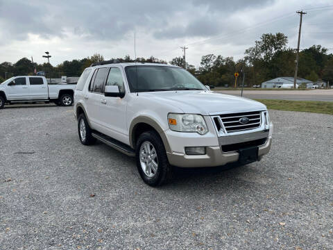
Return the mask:
{"type": "Polygon", "coordinates": [[[159,103],[168,103],[171,106],[176,106],[184,113],[200,115],[266,110],[266,106],[258,101],[210,91],[141,92],[139,93],[140,95],[159,103]]]}

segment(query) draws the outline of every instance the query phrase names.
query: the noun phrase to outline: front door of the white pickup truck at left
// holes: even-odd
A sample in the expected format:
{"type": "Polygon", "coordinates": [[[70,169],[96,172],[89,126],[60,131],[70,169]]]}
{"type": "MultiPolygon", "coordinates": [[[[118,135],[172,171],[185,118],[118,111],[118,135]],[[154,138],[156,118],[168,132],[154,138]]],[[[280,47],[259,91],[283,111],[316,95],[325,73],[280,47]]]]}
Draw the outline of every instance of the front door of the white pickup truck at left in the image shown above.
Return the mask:
{"type": "Polygon", "coordinates": [[[17,77],[8,83],[6,87],[6,95],[8,100],[24,100],[30,99],[26,76],[17,77]]]}

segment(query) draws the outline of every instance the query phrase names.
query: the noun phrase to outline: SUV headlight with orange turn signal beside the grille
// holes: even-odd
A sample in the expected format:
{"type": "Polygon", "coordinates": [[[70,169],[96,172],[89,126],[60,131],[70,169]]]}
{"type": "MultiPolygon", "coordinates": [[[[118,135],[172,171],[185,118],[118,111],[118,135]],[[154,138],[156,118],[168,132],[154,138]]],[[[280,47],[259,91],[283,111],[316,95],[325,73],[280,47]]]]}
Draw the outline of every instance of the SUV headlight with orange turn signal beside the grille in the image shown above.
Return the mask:
{"type": "Polygon", "coordinates": [[[202,115],[174,114],[168,115],[169,128],[178,132],[197,132],[204,135],[208,132],[202,115]]]}

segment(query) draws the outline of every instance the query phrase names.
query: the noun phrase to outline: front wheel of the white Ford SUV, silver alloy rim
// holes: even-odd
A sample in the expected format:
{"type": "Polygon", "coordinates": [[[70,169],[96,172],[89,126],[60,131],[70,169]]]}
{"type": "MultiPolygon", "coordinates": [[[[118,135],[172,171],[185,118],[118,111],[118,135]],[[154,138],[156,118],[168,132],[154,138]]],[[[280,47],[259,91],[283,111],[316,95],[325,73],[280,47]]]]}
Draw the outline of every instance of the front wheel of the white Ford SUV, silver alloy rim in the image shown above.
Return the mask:
{"type": "Polygon", "coordinates": [[[144,132],[136,143],[137,169],[145,183],[162,185],[171,177],[171,165],[160,136],[155,131],[144,132]]]}

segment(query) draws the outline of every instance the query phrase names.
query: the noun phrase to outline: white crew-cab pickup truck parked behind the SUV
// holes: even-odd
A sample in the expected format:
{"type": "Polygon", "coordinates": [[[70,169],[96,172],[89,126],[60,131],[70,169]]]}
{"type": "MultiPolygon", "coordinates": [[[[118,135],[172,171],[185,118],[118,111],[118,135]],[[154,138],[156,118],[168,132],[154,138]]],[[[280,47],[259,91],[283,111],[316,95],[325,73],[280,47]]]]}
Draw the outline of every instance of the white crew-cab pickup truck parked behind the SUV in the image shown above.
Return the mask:
{"type": "Polygon", "coordinates": [[[0,84],[0,109],[5,103],[39,101],[71,106],[75,88],[75,84],[48,85],[44,76],[15,76],[0,84]]]}

